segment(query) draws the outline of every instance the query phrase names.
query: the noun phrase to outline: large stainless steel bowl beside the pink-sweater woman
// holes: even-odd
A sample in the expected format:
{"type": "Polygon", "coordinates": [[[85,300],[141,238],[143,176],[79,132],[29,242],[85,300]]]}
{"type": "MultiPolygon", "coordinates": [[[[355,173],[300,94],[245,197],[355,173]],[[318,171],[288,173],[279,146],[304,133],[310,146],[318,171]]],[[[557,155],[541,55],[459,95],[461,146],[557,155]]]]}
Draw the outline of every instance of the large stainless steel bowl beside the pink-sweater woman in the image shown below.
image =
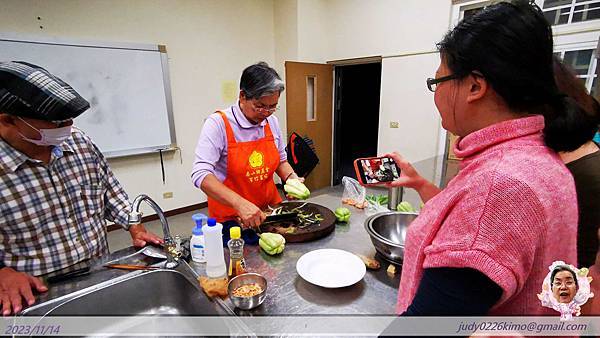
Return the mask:
{"type": "Polygon", "coordinates": [[[412,212],[391,211],[367,218],[365,229],[371,237],[375,250],[392,263],[402,263],[408,225],[418,215],[412,212]]]}

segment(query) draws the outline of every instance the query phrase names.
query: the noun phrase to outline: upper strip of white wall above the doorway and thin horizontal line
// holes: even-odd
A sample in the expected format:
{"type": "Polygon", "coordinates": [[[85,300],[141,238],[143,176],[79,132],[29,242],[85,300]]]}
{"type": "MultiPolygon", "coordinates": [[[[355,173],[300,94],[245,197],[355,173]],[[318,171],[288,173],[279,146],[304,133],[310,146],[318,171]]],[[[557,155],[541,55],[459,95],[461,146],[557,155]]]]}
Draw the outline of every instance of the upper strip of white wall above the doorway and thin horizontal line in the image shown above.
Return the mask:
{"type": "Polygon", "coordinates": [[[450,0],[301,0],[298,53],[326,62],[434,50],[450,9],[450,0]]]}

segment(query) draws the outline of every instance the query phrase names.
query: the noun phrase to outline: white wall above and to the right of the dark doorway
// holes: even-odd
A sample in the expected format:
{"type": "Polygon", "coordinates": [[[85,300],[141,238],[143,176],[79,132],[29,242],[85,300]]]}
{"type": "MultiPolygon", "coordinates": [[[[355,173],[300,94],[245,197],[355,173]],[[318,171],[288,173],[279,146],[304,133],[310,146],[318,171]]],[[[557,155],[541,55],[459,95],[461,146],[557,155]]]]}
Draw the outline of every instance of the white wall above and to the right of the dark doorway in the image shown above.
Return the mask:
{"type": "Polygon", "coordinates": [[[444,153],[445,132],[425,86],[439,60],[427,52],[448,31],[450,14],[450,0],[297,1],[298,60],[383,56],[378,152],[430,158],[444,153]],[[390,129],[391,121],[400,128],[390,129]]]}

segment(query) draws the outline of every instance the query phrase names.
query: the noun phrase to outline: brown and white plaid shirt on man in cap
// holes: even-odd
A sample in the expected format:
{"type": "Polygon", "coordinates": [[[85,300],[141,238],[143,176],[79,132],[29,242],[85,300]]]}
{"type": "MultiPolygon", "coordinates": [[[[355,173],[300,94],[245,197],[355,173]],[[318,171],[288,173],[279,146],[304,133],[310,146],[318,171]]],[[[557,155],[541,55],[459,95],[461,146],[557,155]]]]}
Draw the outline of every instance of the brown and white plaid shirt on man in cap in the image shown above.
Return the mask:
{"type": "Polygon", "coordinates": [[[0,261],[45,274],[108,253],[106,220],[127,225],[131,203],[104,156],[80,130],[29,158],[0,138],[0,261]]]}

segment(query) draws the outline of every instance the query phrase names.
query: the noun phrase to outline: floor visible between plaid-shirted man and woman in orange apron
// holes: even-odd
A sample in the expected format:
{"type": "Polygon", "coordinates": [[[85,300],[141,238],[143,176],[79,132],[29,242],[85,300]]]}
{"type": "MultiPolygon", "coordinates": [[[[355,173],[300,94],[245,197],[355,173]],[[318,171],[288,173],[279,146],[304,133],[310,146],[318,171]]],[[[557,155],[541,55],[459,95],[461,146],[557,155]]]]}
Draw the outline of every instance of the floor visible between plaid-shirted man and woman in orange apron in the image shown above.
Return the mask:
{"type": "MultiPolygon", "coordinates": [[[[192,215],[197,212],[201,212],[206,215],[208,213],[208,209],[204,208],[168,217],[167,221],[169,222],[171,235],[180,235],[182,238],[191,236],[192,228],[195,225],[194,221],[192,221],[192,215]]],[[[144,225],[146,226],[146,229],[162,237],[162,226],[159,220],[144,223],[144,225]]],[[[108,246],[111,252],[127,248],[131,245],[131,236],[129,236],[129,232],[119,229],[108,233],[108,246]]]]}

